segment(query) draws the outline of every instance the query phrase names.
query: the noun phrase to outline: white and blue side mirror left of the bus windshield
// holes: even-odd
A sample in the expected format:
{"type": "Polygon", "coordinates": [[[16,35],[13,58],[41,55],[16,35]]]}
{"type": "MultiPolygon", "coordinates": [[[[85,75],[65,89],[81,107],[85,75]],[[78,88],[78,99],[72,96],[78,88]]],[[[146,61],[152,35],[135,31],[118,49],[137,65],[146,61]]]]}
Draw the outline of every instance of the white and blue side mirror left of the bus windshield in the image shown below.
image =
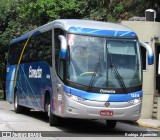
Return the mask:
{"type": "Polygon", "coordinates": [[[66,54],[67,54],[67,41],[66,38],[63,35],[59,35],[58,36],[59,40],[60,40],[60,58],[61,59],[66,59],[66,54]]]}

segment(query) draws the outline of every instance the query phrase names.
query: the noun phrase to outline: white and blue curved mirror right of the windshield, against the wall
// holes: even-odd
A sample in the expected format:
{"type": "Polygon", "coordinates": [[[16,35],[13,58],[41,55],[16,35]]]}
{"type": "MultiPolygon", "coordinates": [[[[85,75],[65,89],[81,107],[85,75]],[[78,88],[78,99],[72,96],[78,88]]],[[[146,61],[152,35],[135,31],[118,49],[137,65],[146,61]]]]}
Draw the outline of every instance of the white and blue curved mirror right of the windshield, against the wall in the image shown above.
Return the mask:
{"type": "Polygon", "coordinates": [[[143,43],[143,42],[140,42],[140,45],[147,50],[147,52],[148,52],[148,65],[152,65],[154,63],[154,53],[153,53],[152,47],[149,44],[143,43]]]}

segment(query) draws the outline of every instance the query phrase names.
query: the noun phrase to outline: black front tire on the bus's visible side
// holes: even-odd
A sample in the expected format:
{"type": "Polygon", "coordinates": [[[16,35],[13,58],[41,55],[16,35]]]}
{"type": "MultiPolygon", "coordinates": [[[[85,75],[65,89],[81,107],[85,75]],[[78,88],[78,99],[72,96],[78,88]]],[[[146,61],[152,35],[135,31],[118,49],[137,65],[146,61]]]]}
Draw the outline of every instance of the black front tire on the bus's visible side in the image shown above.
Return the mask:
{"type": "Polygon", "coordinates": [[[48,116],[49,116],[49,125],[50,126],[59,126],[59,124],[60,124],[60,117],[58,117],[58,116],[56,116],[56,115],[54,115],[52,113],[51,105],[50,104],[48,106],[50,108],[48,110],[50,112],[50,113],[48,113],[48,116]]]}

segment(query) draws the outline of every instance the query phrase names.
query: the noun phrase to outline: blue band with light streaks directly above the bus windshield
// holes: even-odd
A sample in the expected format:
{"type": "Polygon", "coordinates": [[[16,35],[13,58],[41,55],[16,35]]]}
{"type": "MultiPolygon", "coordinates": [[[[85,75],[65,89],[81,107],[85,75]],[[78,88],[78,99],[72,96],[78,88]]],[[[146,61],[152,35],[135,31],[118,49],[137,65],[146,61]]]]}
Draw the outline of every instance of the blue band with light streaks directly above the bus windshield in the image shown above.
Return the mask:
{"type": "Polygon", "coordinates": [[[83,33],[91,35],[137,38],[137,35],[132,31],[100,30],[82,27],[70,27],[68,31],[72,33],[83,33]]]}

